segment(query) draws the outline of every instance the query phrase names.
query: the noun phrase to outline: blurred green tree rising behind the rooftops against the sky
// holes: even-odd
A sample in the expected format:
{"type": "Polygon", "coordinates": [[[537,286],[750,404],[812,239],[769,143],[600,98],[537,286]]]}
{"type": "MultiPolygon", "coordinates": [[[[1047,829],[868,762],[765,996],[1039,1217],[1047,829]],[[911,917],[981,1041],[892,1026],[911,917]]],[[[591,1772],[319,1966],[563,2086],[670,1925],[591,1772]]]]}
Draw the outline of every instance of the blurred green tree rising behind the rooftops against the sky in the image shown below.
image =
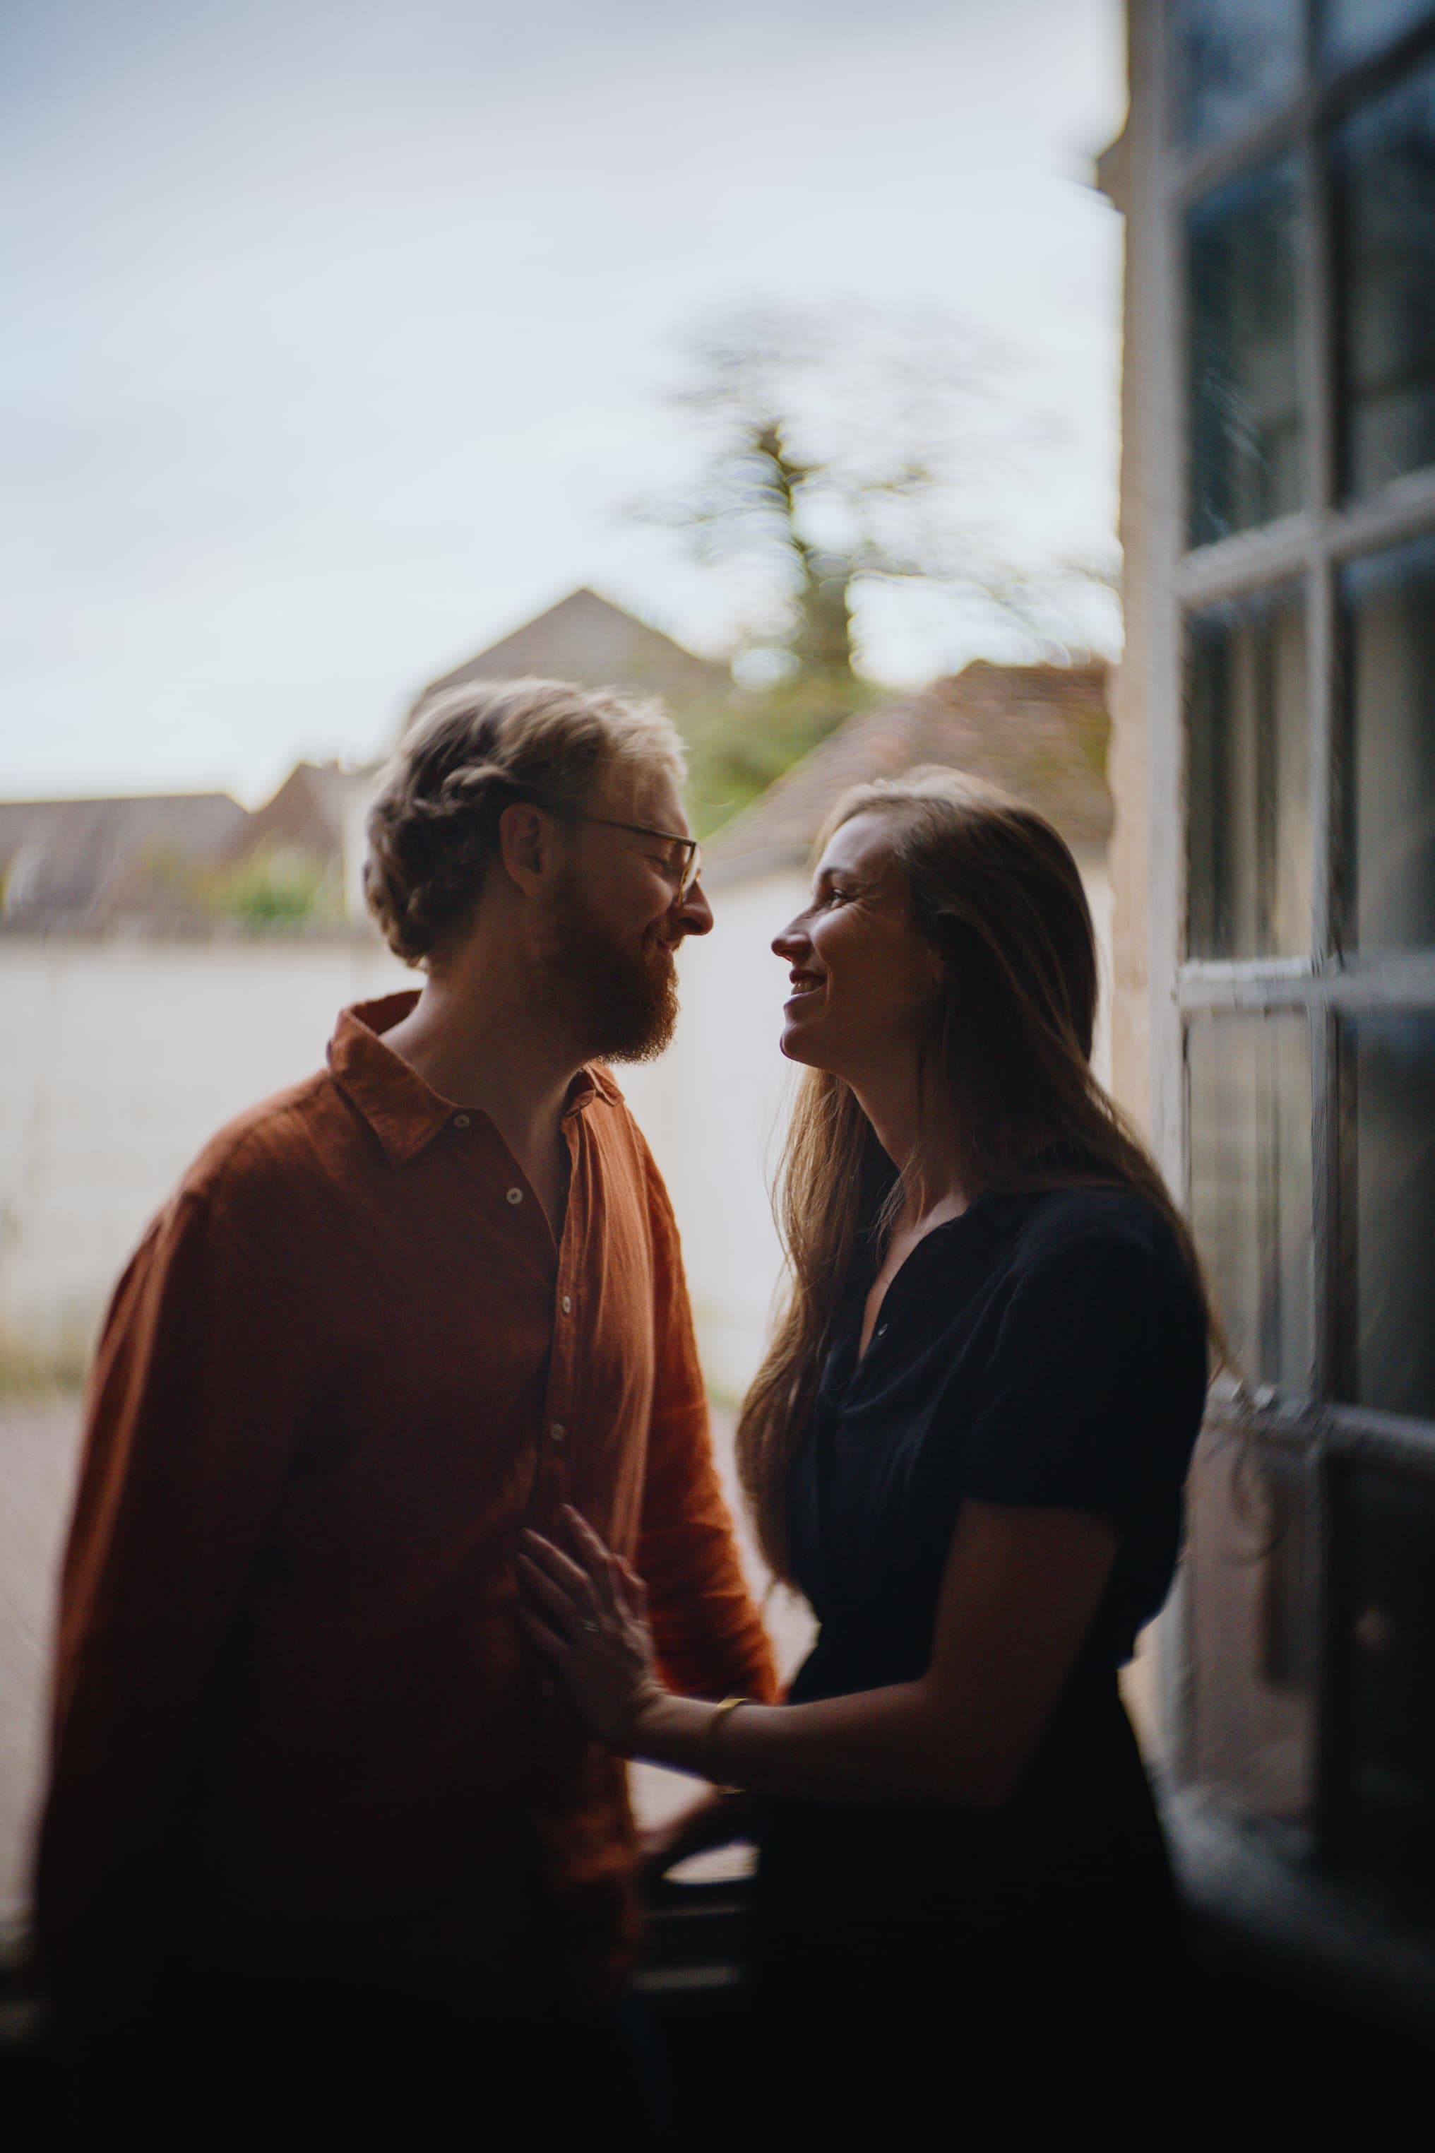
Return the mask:
{"type": "Polygon", "coordinates": [[[878,691],[854,670],[861,599],[923,586],[1018,631],[1071,642],[1071,586],[1000,558],[970,512],[992,463],[996,360],[934,316],[762,310],[697,332],[671,396],[706,446],[691,480],[633,515],[738,586],[738,693],[684,713],[693,810],[712,827],[878,691]]]}

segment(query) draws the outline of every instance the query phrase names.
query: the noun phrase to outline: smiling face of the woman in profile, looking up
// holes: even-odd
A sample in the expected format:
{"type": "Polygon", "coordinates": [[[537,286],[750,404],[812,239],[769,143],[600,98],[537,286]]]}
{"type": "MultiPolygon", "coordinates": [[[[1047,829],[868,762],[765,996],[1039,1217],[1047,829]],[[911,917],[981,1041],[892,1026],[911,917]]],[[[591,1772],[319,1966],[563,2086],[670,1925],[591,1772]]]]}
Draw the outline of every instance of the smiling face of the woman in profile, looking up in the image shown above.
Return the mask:
{"type": "Polygon", "coordinates": [[[811,904],[775,937],[792,967],[781,1049],[850,1083],[914,1055],[942,965],[908,917],[908,878],[884,814],[854,814],[833,833],[811,904]]]}

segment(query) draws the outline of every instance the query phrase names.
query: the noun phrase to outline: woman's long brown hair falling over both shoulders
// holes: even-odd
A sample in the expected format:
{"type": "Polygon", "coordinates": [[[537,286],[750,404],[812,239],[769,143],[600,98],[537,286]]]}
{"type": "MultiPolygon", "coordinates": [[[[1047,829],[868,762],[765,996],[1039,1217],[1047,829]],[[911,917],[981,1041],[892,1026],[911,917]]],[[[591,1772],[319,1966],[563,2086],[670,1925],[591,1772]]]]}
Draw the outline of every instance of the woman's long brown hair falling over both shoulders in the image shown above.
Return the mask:
{"type": "MultiPolygon", "coordinates": [[[[1162,1214],[1220,1331],[1185,1219],[1091,1074],[1097,945],[1080,870],[1046,816],[955,771],[910,771],[841,801],[891,820],[912,924],[942,956],[923,1085],[944,1094],[968,1191],[1129,1188],[1162,1214]]],[[[841,1076],[807,1070],[777,1184],[787,1300],[738,1421],[738,1475],[762,1552],[790,1578],[787,1468],[811,1419],[858,1255],[886,1238],[901,1176],[841,1076]]]]}

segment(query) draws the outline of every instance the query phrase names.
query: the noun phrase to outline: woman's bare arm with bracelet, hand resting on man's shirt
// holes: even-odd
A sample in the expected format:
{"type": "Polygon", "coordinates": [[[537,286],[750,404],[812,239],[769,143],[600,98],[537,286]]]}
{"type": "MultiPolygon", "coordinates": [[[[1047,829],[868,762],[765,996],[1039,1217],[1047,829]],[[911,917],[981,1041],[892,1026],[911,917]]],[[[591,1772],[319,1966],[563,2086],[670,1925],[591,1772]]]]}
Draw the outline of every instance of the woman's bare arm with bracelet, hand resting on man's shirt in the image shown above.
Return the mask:
{"type": "Polygon", "coordinates": [[[1117,1557],[1093,1514],[964,1503],[919,1681],[716,1718],[656,1681],[624,1565],[581,1520],[570,1539],[531,1535],[529,1626],[613,1748],[753,1793],[972,1809],[1015,1793],[1117,1557]]]}

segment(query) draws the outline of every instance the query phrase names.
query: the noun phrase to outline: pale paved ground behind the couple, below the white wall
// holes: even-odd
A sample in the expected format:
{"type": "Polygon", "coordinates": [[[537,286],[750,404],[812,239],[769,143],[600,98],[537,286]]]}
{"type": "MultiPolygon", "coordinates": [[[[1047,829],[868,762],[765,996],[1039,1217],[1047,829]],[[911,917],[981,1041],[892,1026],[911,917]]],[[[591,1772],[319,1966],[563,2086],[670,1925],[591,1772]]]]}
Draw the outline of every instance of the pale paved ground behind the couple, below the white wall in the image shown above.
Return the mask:
{"type": "MultiPolygon", "coordinates": [[[[0,1916],[26,1895],[30,1837],[45,1755],[45,1688],[54,1578],[69,1518],[80,1406],[75,1399],[0,1402],[0,1916]]],[[[714,1438],[729,1498],[731,1415],[714,1415],[714,1438]]],[[[734,1501],[734,1509],[738,1509],[734,1501]]],[[[755,1591],[766,1572],[744,1544],[755,1591]]],[[[772,1593],[768,1628],[783,1673],[807,1651],[811,1617],[790,1593],[772,1593]]],[[[633,1800],[639,1817],[656,1824],[695,1793],[678,1772],[635,1765],[633,1800]]]]}

